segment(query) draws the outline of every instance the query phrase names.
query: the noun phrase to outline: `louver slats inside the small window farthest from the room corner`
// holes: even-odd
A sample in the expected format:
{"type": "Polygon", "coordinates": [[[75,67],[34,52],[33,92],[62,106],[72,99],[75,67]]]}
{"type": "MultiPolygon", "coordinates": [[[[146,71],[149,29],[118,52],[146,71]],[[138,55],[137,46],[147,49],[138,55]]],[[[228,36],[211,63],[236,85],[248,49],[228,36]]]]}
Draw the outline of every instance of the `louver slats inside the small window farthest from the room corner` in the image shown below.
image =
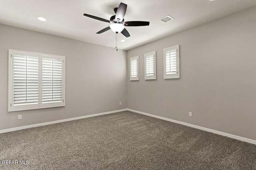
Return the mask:
{"type": "Polygon", "coordinates": [[[176,50],[167,51],[165,56],[166,56],[166,74],[176,74],[177,73],[176,50]]]}

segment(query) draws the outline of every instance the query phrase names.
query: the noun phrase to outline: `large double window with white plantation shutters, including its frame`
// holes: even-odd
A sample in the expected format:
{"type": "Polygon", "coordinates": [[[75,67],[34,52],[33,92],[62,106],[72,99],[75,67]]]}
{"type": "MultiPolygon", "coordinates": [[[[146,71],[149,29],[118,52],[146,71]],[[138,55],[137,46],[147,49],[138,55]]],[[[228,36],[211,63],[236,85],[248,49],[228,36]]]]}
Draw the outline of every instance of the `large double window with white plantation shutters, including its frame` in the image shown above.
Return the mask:
{"type": "Polygon", "coordinates": [[[65,106],[65,57],[9,50],[8,111],[65,106]]]}

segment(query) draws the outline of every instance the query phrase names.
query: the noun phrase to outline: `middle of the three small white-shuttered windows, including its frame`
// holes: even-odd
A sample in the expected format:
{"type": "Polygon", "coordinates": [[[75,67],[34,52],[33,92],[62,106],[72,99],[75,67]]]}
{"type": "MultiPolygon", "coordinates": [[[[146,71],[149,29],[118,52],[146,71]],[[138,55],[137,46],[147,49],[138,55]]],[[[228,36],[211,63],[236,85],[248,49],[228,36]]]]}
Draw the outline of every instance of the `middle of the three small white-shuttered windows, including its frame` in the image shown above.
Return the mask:
{"type": "Polygon", "coordinates": [[[145,80],[156,79],[156,51],[144,54],[145,80]]]}

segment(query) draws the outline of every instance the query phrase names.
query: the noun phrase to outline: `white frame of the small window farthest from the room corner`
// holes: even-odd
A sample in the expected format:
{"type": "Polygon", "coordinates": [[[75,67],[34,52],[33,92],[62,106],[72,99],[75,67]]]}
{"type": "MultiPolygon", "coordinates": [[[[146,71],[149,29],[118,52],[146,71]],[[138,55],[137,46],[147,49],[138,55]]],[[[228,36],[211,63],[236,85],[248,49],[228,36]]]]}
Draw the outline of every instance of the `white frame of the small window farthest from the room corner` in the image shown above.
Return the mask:
{"type": "Polygon", "coordinates": [[[179,50],[180,45],[175,45],[172,47],[168,47],[163,49],[163,61],[164,61],[164,79],[174,79],[174,78],[180,78],[180,50],[179,50]],[[173,51],[176,50],[176,68],[177,68],[177,73],[176,74],[166,74],[166,52],[167,51],[173,51]]]}

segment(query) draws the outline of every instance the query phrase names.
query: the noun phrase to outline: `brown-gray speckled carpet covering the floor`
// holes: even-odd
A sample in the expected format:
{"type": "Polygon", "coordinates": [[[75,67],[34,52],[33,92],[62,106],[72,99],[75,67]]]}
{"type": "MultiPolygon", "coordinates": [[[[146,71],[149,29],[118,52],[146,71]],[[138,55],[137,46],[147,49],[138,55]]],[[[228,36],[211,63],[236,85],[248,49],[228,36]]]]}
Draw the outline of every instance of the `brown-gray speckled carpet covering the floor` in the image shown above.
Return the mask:
{"type": "Polygon", "coordinates": [[[255,170],[256,145],[123,111],[0,134],[0,169],[255,170]]]}

